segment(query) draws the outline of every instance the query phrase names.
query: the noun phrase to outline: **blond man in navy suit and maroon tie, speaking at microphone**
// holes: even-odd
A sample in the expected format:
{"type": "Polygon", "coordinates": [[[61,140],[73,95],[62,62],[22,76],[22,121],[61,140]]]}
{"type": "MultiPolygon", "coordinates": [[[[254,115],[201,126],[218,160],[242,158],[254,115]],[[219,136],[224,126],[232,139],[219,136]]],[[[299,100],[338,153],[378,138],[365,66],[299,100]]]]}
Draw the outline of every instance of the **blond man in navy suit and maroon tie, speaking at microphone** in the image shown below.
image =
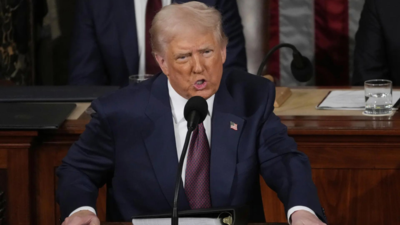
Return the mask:
{"type": "Polygon", "coordinates": [[[309,161],[273,113],[274,85],[223,69],[220,24],[218,11],[198,2],[157,14],[151,39],[163,73],[93,101],[96,113],[57,171],[65,225],[99,224],[96,197],[106,183],[109,220],[171,210],[183,108],[193,96],[206,99],[208,115],[184,159],[179,210],[250,204],[261,173],[293,225],[324,224],[309,161]]]}

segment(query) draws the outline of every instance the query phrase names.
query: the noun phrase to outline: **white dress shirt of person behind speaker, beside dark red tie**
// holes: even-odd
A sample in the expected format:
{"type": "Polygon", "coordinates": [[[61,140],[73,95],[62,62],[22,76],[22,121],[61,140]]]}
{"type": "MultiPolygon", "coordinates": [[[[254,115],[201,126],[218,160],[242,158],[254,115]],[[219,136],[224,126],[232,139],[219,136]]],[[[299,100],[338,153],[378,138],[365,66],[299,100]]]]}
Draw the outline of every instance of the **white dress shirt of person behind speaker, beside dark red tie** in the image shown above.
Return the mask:
{"type": "MultiPolygon", "coordinates": [[[[171,0],[161,0],[163,6],[170,5],[171,0]]],[[[146,74],[146,6],[147,0],[134,0],[136,16],[136,34],[139,49],[139,72],[146,74]]]]}

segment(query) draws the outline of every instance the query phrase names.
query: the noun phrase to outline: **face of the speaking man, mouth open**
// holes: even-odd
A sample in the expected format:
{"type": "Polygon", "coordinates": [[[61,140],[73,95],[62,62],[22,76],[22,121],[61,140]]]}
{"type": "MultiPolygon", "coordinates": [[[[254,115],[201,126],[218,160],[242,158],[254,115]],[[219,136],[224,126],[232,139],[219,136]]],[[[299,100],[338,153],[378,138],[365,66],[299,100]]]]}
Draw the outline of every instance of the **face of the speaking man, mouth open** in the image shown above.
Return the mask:
{"type": "Polygon", "coordinates": [[[163,56],[156,54],[156,59],[179,95],[208,99],[221,83],[226,47],[220,46],[212,32],[187,29],[172,39],[163,56]]]}

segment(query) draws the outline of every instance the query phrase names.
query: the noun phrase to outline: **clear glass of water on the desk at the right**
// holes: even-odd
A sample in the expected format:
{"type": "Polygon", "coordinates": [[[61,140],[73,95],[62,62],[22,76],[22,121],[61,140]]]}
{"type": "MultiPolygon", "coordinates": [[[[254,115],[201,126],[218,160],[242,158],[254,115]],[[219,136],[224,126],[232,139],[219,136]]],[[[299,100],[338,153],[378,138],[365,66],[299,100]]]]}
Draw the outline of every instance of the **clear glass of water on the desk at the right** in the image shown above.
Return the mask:
{"type": "Polygon", "coordinates": [[[392,111],[392,81],[367,80],[364,83],[364,114],[384,115],[392,111]]]}

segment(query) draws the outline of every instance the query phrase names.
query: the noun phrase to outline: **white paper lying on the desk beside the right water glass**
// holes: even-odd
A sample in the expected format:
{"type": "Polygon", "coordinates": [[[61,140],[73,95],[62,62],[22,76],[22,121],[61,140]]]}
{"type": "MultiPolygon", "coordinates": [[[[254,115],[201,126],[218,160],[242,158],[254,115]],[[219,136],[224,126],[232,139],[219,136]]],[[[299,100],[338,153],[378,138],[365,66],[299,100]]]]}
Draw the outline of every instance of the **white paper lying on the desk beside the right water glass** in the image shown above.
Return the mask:
{"type": "MultiPolygon", "coordinates": [[[[393,91],[393,105],[400,99],[400,91],[393,91]]],[[[365,108],[364,90],[331,91],[317,109],[362,110],[365,108]]]]}

